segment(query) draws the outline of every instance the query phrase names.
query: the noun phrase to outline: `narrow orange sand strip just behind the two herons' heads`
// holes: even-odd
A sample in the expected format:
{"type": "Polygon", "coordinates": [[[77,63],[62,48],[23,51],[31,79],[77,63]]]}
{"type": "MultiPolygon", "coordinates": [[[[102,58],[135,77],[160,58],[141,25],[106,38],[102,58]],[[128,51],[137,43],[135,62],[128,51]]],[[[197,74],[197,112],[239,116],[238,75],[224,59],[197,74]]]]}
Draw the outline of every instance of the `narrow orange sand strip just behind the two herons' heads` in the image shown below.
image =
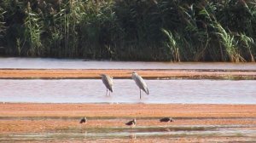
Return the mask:
{"type": "MultiPolygon", "coordinates": [[[[100,78],[105,73],[114,78],[131,78],[134,70],[35,70],[35,69],[1,69],[2,79],[27,79],[27,78],[100,78]]],[[[141,76],[148,79],[154,78],[234,78],[256,79],[256,71],[225,71],[225,70],[136,70],[141,76]]]]}

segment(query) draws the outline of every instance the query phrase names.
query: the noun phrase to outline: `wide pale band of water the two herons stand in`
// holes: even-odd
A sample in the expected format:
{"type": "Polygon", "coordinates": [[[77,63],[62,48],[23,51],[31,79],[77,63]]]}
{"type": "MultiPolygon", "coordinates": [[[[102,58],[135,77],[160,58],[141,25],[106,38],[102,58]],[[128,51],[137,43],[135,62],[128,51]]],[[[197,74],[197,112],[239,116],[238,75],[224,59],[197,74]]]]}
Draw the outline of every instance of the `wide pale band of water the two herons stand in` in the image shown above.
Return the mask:
{"type": "Polygon", "coordinates": [[[133,80],[115,79],[113,93],[99,79],[0,80],[0,101],[39,103],[256,104],[256,80],[146,80],[139,100],[133,80]]]}

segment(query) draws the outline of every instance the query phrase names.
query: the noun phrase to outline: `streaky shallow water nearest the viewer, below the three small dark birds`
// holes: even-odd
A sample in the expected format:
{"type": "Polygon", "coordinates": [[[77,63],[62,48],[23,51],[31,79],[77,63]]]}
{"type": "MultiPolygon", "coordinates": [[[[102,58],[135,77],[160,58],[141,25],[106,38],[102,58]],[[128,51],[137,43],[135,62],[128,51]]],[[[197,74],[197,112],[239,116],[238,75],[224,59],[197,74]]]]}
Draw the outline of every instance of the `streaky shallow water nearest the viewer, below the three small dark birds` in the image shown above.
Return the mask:
{"type": "Polygon", "coordinates": [[[82,140],[82,139],[136,139],[159,137],[188,138],[188,137],[243,137],[247,141],[255,140],[256,130],[250,127],[238,126],[190,126],[190,127],[139,127],[108,128],[108,129],[64,129],[49,133],[9,134],[0,135],[0,140],[82,140]]]}

